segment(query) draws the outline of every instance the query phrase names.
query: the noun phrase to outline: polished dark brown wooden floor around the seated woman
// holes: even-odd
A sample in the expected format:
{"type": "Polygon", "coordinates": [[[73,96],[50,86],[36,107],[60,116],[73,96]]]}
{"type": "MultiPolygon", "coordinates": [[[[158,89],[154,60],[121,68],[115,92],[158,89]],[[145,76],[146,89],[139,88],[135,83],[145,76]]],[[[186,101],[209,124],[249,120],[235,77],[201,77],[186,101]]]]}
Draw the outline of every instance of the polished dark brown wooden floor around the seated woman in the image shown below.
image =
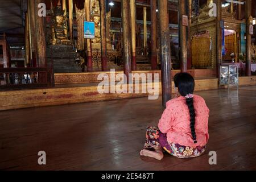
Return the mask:
{"type": "Polygon", "coordinates": [[[256,170],[256,86],[197,92],[210,109],[207,152],[195,159],[139,156],[161,100],[92,102],[0,112],[2,170],[256,170]],[[46,166],[38,152],[46,151],[46,166]],[[217,152],[210,166],[209,151],[217,152]]]}

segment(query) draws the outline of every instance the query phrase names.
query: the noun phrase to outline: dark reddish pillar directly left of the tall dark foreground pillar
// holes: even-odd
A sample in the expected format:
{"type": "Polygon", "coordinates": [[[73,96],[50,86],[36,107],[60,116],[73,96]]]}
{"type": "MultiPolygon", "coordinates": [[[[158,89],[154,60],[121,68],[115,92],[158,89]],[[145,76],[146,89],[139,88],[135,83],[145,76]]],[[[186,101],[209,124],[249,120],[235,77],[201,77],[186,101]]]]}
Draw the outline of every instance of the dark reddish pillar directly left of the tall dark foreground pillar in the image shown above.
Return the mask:
{"type": "Polygon", "coordinates": [[[158,69],[157,56],[157,15],[156,15],[157,0],[151,0],[151,68],[158,69]]]}

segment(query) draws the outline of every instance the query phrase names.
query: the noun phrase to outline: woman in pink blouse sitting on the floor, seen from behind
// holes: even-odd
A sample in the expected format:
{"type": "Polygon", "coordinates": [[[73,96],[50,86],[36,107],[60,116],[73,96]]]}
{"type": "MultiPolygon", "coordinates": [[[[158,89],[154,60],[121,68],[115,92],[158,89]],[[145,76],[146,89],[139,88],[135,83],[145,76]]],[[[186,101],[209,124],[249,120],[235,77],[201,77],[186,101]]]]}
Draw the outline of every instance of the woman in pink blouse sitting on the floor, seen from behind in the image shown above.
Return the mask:
{"type": "Polygon", "coordinates": [[[205,151],[209,109],[202,97],[193,95],[195,80],[191,75],[177,73],[174,83],[177,98],[167,102],[158,128],[147,127],[142,156],[162,160],[166,151],[177,158],[194,158],[205,151]]]}

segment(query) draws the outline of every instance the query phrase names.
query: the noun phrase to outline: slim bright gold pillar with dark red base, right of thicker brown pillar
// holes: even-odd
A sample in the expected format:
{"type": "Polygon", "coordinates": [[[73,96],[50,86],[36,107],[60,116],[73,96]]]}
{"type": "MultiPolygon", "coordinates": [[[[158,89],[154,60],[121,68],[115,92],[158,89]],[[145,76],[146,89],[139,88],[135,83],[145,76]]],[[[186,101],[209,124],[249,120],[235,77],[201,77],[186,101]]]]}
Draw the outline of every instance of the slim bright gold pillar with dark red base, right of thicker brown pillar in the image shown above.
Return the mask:
{"type": "Polygon", "coordinates": [[[131,52],[132,52],[132,63],[131,67],[133,71],[137,69],[136,62],[136,3],[135,0],[130,0],[130,11],[131,11],[131,52]]]}

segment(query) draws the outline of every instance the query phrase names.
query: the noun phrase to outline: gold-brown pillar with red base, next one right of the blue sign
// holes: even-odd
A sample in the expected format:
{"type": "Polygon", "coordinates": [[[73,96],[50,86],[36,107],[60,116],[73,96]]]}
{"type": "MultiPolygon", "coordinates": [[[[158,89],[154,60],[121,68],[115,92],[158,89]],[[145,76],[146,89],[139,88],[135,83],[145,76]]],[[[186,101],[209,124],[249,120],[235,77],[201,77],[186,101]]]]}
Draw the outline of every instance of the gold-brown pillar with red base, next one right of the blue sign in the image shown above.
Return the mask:
{"type": "Polygon", "coordinates": [[[101,70],[106,71],[107,59],[106,59],[106,4],[105,0],[100,0],[101,9],[101,70]]]}

